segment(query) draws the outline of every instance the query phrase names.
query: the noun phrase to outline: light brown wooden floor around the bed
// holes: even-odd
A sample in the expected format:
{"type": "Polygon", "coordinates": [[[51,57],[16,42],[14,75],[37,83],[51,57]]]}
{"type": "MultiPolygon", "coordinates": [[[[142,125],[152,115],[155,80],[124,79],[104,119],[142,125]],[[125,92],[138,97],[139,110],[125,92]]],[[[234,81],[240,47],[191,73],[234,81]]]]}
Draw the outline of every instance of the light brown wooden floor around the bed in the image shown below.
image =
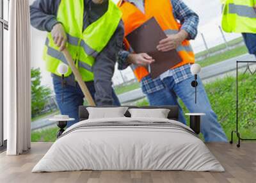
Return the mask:
{"type": "Polygon", "coordinates": [[[32,143],[29,152],[19,156],[0,154],[0,182],[256,182],[256,143],[242,143],[241,148],[225,143],[207,144],[226,172],[191,171],[70,171],[31,173],[52,143],[32,143]]]}

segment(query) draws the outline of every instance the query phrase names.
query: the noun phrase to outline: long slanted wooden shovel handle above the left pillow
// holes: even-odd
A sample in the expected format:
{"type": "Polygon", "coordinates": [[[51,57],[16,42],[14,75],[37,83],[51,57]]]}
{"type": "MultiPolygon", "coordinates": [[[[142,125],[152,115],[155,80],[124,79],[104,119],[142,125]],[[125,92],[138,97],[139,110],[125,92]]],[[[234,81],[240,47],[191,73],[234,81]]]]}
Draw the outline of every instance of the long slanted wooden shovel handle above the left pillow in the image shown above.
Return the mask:
{"type": "Polygon", "coordinates": [[[62,52],[68,62],[68,65],[70,66],[72,72],[74,73],[74,76],[77,79],[77,83],[79,84],[82,92],[84,93],[84,97],[86,98],[86,100],[88,101],[90,106],[96,106],[91,93],[89,92],[86,84],[84,83],[84,81],[82,79],[82,76],[81,76],[79,70],[76,68],[75,63],[72,60],[72,56],[70,55],[70,52],[67,49],[64,49],[62,52]]]}

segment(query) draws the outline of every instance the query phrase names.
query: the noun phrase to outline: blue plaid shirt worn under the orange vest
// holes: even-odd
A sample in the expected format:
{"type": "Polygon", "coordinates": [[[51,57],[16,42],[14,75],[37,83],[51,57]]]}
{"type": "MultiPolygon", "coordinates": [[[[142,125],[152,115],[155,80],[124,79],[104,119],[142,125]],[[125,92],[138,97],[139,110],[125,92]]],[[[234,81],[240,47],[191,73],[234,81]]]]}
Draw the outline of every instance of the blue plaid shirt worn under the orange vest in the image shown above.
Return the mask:
{"type": "MultiPolygon", "coordinates": [[[[131,3],[134,3],[136,6],[140,6],[141,9],[141,2],[130,0],[131,3]]],[[[186,4],[184,4],[181,0],[170,0],[173,6],[173,15],[175,19],[180,21],[180,24],[182,24],[180,29],[184,29],[189,33],[188,39],[195,39],[197,35],[197,26],[199,22],[198,15],[196,15],[195,12],[190,10],[186,4]]],[[[120,51],[118,53],[118,69],[124,70],[127,68],[130,64],[127,62],[127,56],[130,52],[128,51],[120,51]]],[[[160,77],[157,77],[156,79],[152,79],[150,76],[144,77],[141,80],[141,87],[144,93],[153,93],[157,92],[159,90],[163,90],[164,84],[162,80],[165,77],[173,77],[175,83],[179,83],[181,81],[184,81],[185,79],[188,79],[188,77],[191,76],[190,72],[190,65],[183,65],[181,67],[170,69],[163,74],[161,74],[160,77]]]]}

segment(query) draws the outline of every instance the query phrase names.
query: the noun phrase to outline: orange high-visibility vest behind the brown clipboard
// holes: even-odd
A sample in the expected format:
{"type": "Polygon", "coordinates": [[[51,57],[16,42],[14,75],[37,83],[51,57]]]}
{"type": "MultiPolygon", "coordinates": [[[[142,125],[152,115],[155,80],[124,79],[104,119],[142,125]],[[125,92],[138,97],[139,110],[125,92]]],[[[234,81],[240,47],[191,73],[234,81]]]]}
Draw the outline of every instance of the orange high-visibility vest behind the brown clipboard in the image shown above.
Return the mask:
{"type": "MultiPolygon", "coordinates": [[[[157,20],[166,35],[179,33],[181,26],[173,16],[173,7],[170,0],[145,0],[145,14],[127,1],[119,1],[118,7],[123,13],[122,20],[124,21],[125,36],[152,17],[157,20]]],[[[124,43],[128,50],[129,43],[126,39],[124,43]]],[[[195,55],[188,40],[184,40],[182,45],[177,47],[177,51],[182,61],[173,68],[195,63],[195,55]]],[[[132,65],[131,67],[138,81],[141,81],[143,77],[149,74],[145,67],[139,67],[138,65],[132,65]]]]}

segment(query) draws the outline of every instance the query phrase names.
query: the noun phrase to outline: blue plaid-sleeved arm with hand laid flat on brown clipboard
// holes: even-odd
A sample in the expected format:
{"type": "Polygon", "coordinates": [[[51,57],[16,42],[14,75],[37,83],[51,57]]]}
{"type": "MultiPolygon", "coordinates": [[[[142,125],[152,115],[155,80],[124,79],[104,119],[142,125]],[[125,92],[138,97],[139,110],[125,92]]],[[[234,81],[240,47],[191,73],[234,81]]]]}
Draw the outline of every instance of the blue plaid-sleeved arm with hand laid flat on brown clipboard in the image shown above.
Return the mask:
{"type": "Polygon", "coordinates": [[[195,39],[197,35],[198,15],[190,10],[181,0],[171,0],[175,19],[180,21],[181,28],[179,33],[168,35],[161,40],[157,49],[159,51],[171,51],[176,49],[184,40],[195,39]]]}

